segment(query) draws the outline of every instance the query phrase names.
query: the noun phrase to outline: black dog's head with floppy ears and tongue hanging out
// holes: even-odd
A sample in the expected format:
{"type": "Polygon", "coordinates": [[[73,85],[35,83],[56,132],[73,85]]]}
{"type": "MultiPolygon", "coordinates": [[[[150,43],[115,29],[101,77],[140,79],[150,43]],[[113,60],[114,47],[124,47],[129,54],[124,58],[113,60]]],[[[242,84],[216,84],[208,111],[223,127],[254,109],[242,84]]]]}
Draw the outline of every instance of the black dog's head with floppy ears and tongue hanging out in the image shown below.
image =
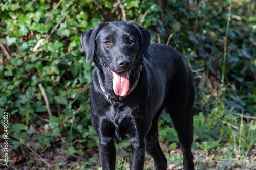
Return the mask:
{"type": "Polygon", "coordinates": [[[129,89],[128,75],[133,65],[138,64],[141,56],[150,59],[147,52],[150,33],[134,21],[99,22],[95,28],[83,32],[81,44],[86,62],[94,57],[97,64],[104,66],[113,78],[114,92],[120,96],[129,89]]]}

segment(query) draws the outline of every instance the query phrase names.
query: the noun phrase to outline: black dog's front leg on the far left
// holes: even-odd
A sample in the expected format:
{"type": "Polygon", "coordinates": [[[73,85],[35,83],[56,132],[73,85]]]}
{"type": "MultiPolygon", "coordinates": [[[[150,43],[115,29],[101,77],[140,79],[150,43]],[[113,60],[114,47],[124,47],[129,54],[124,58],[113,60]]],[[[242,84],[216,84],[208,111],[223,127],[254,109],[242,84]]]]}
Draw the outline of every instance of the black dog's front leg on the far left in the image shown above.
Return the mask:
{"type": "Polygon", "coordinates": [[[113,139],[105,140],[99,138],[99,156],[103,170],[115,169],[116,164],[116,147],[113,139]]]}

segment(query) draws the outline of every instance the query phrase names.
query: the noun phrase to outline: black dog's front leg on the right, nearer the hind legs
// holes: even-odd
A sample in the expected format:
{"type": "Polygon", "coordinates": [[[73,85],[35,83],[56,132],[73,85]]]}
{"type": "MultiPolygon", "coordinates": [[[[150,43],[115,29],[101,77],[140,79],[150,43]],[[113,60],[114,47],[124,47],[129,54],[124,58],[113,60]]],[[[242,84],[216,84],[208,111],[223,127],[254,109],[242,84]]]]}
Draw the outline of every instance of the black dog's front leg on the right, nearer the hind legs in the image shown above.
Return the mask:
{"type": "Polygon", "coordinates": [[[131,143],[129,154],[130,169],[143,169],[145,162],[146,140],[141,139],[131,143]]]}

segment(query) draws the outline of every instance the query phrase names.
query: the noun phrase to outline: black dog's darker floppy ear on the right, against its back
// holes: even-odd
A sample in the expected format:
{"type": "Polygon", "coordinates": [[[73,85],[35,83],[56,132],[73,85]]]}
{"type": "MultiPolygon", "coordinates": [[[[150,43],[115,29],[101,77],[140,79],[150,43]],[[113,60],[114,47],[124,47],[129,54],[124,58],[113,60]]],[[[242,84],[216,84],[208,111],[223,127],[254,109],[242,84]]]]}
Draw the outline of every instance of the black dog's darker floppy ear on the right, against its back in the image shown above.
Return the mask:
{"type": "Polygon", "coordinates": [[[141,47],[142,54],[147,60],[150,60],[150,54],[148,54],[147,52],[147,48],[148,46],[150,46],[150,32],[148,32],[143,27],[139,27],[139,30],[140,30],[140,47],[141,47]]]}

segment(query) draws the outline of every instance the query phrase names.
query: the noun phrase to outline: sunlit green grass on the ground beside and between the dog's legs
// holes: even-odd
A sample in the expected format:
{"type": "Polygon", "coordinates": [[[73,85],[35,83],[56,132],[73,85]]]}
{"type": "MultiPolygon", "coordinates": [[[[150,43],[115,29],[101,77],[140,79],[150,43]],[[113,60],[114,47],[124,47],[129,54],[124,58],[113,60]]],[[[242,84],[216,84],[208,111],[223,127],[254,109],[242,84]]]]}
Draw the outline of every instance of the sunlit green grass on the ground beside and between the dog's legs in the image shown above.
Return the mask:
{"type": "MultiPolygon", "coordinates": [[[[166,114],[163,113],[159,122],[159,139],[168,160],[167,169],[183,169],[177,133],[166,114]]],[[[245,118],[243,112],[234,114],[232,109],[227,111],[224,105],[218,105],[209,114],[194,116],[195,169],[255,169],[256,126],[253,118],[245,118]]],[[[116,148],[116,169],[129,169],[129,142],[118,143],[116,148]]],[[[98,155],[79,164],[77,169],[102,169],[98,155]],[[89,165],[88,162],[90,166],[83,166],[89,165]]],[[[144,169],[155,169],[153,158],[148,154],[144,169]]]]}

